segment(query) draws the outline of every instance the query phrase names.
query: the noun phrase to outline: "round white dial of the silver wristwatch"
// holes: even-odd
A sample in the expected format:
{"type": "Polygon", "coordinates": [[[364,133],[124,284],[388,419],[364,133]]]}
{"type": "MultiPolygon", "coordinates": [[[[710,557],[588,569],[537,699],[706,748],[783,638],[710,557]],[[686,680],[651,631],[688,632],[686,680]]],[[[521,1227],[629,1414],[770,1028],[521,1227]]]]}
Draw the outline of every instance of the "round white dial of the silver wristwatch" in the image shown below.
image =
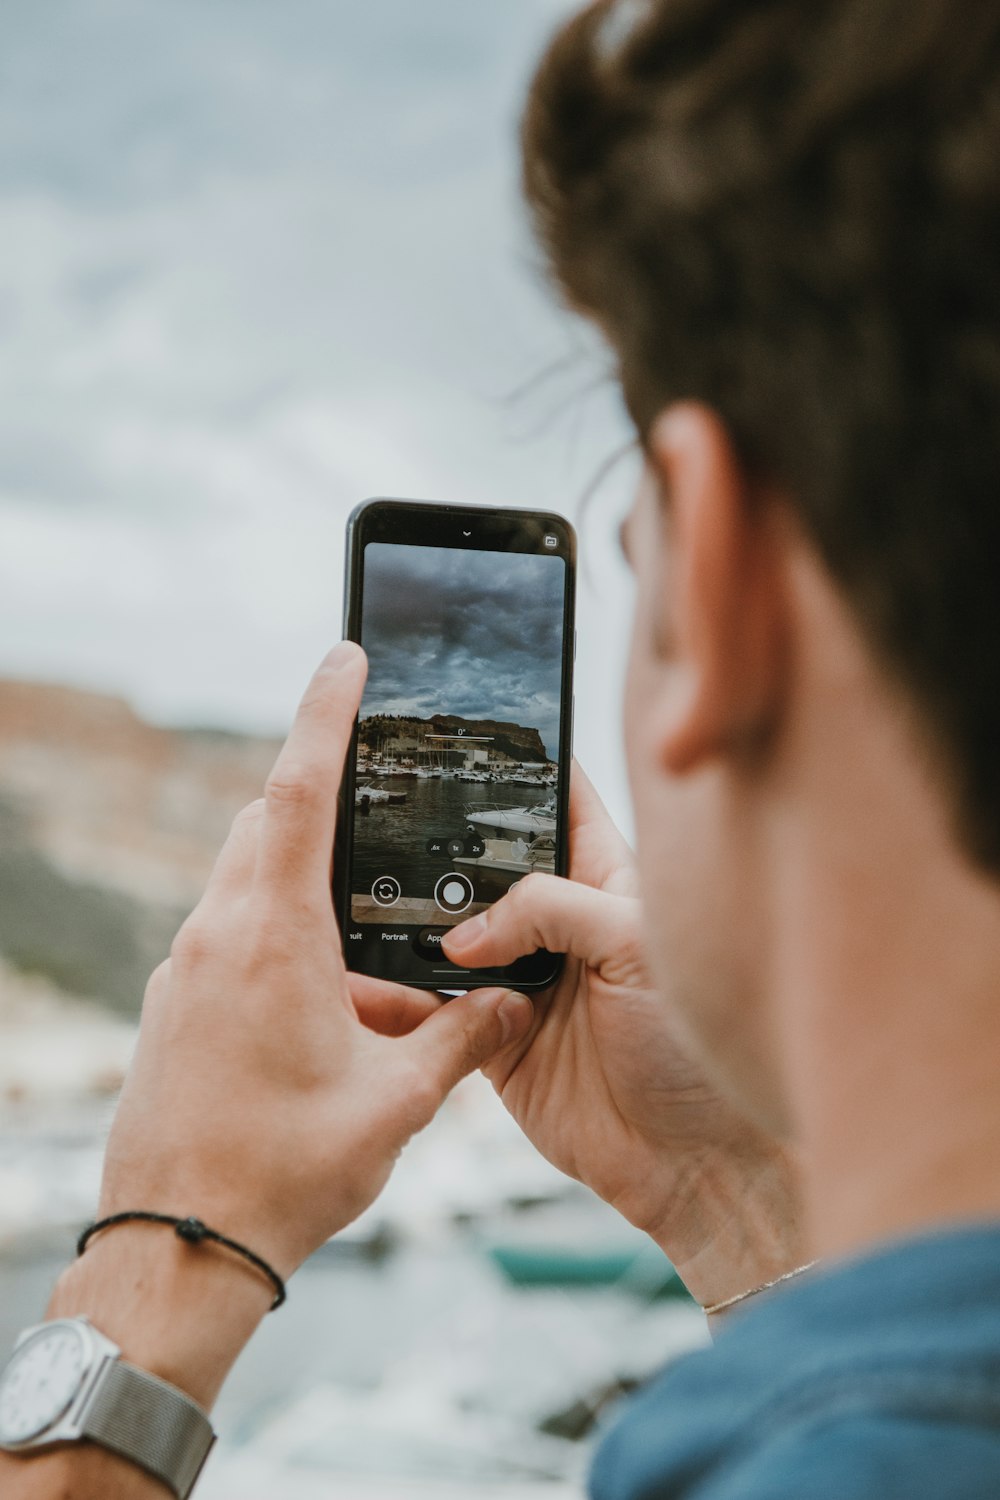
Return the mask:
{"type": "Polygon", "coordinates": [[[84,1335],[69,1322],[40,1328],[0,1377],[0,1443],[27,1443],[64,1414],[87,1364],[84,1335]]]}

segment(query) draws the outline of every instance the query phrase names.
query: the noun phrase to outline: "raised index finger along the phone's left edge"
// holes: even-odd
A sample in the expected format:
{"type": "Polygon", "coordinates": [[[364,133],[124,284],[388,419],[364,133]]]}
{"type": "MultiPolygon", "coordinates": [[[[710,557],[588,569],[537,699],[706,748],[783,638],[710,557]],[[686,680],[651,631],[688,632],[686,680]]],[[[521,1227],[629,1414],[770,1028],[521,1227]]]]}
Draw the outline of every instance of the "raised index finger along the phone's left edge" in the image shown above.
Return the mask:
{"type": "Polygon", "coordinates": [[[258,880],[282,890],[328,884],[337,792],[366,675],[367,658],[352,640],[313,674],[264,789],[258,880]]]}

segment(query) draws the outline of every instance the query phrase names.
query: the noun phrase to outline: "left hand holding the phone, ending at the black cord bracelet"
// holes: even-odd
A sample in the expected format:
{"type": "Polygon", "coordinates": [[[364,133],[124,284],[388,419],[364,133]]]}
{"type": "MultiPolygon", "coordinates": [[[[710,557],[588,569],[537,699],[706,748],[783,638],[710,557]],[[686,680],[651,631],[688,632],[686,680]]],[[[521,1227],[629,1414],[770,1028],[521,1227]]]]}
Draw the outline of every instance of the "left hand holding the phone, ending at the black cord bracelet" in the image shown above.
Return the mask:
{"type": "MultiPolygon", "coordinates": [[[[355,1012],[330,896],[340,772],[364,654],[330,652],[262,801],[145,996],[100,1214],[195,1214],[286,1275],[367,1208],[409,1137],[531,1005],[465,996],[402,1038],[355,1012]]],[[[120,1232],[115,1232],[120,1233],[120,1232]]]]}

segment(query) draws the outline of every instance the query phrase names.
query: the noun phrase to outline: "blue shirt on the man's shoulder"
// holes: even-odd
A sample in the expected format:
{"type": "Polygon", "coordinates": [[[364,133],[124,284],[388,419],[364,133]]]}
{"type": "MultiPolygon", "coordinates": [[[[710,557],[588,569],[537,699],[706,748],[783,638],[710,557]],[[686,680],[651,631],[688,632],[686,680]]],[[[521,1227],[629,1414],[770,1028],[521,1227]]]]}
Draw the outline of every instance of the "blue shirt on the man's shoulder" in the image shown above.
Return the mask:
{"type": "Polygon", "coordinates": [[[594,1500],[1000,1500],[1000,1226],[732,1312],[628,1404],[594,1500]]]}

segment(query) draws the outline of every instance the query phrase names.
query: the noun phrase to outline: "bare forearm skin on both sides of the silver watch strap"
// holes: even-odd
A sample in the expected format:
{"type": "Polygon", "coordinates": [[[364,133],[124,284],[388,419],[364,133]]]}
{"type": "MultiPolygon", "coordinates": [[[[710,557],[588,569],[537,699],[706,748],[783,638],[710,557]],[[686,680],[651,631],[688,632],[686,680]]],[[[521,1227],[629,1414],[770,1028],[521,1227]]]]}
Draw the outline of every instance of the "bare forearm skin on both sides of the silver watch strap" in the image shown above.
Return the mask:
{"type": "MultiPolygon", "coordinates": [[[[160,1376],[208,1410],[273,1292],[235,1257],[190,1246],[151,1226],[93,1240],[58,1280],[46,1317],[90,1322],[121,1358],[160,1376]]],[[[4,1500],[165,1500],[135,1464],[91,1443],[18,1458],[0,1454],[4,1500]]]]}

